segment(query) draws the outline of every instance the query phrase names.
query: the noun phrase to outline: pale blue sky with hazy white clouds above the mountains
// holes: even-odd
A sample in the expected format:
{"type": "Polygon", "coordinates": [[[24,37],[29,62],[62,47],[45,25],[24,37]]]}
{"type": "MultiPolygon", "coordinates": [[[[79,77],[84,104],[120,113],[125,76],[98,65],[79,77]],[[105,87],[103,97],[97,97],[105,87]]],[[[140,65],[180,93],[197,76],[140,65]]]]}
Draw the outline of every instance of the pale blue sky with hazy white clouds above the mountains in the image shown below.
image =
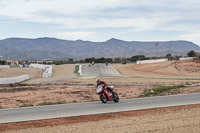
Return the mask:
{"type": "Polygon", "coordinates": [[[0,0],[0,39],[10,37],[200,45],[200,0],[0,0]]]}

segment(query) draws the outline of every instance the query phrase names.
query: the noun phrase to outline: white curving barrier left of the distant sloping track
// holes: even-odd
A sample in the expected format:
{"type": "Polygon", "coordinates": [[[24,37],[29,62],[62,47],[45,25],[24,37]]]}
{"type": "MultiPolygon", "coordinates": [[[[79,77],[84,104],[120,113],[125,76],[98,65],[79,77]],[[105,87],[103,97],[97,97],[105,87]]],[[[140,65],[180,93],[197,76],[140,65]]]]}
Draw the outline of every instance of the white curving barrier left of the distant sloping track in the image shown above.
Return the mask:
{"type": "Polygon", "coordinates": [[[44,70],[42,77],[49,78],[52,76],[53,68],[51,65],[42,65],[42,64],[30,64],[29,67],[39,68],[44,70]]]}

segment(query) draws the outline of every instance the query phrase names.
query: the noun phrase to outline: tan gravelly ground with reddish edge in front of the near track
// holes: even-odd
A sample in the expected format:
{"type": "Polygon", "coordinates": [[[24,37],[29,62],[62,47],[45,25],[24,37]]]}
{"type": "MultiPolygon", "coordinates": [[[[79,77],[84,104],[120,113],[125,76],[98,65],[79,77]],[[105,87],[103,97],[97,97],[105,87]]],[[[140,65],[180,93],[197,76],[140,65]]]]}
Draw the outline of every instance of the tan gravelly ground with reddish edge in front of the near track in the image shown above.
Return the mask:
{"type": "Polygon", "coordinates": [[[199,133],[200,105],[0,125],[3,133],[199,133]]]}

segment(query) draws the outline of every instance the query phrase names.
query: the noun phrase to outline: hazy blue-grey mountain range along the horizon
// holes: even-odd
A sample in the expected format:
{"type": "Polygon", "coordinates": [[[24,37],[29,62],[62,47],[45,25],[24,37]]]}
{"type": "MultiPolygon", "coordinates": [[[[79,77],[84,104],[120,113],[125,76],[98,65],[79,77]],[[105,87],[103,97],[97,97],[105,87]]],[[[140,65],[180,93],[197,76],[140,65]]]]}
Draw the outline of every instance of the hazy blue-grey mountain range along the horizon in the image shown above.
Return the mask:
{"type": "Polygon", "coordinates": [[[200,52],[197,44],[188,41],[139,42],[109,39],[105,42],[61,40],[56,38],[8,38],[0,40],[0,56],[16,60],[75,60],[132,57],[134,55],[186,56],[190,50],[200,52]],[[155,45],[156,44],[156,45],[155,45]],[[7,52],[6,52],[7,51],[7,52]],[[7,53],[7,54],[6,54],[7,53]]]}

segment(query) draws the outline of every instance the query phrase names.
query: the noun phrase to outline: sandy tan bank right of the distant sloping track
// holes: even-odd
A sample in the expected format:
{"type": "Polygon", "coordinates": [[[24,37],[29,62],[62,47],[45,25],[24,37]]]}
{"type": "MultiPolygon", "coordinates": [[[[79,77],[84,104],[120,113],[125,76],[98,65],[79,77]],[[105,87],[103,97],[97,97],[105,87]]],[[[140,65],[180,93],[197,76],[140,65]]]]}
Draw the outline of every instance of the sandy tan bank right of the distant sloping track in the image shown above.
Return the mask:
{"type": "Polygon", "coordinates": [[[115,65],[122,75],[143,77],[199,77],[200,63],[188,61],[166,61],[162,63],[115,65]]]}

